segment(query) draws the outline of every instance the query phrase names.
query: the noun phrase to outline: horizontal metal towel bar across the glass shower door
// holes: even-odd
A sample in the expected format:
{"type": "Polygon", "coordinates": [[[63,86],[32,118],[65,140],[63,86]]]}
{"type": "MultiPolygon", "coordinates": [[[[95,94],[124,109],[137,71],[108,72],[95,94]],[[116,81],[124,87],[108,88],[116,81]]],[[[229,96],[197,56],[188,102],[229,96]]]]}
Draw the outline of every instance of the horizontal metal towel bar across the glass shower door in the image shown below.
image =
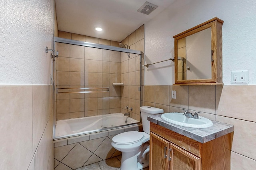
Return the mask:
{"type": "Polygon", "coordinates": [[[56,94],[58,93],[101,93],[101,92],[109,92],[109,88],[108,87],[56,88],[56,94]],[[83,90],[83,91],[80,91],[80,90],[83,90]],[[85,90],[90,90],[90,91],[85,91],[85,90]]]}

